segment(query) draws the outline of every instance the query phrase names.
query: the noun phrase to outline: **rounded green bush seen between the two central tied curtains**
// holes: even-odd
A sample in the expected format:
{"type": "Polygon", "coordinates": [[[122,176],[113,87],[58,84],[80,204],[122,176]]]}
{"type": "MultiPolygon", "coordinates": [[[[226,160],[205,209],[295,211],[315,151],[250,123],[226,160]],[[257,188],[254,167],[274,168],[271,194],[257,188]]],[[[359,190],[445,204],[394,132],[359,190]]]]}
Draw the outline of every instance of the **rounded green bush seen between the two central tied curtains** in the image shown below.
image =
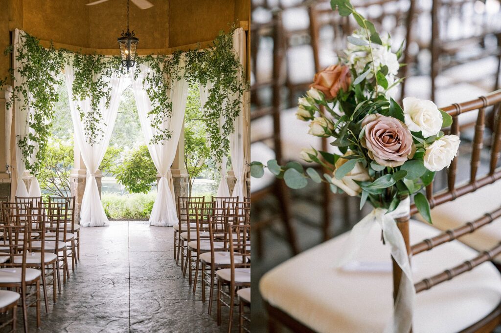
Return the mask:
{"type": "Polygon", "coordinates": [[[122,164],[114,169],[118,183],[130,193],[148,193],[156,182],[157,169],[146,145],[129,151],[122,164]]]}

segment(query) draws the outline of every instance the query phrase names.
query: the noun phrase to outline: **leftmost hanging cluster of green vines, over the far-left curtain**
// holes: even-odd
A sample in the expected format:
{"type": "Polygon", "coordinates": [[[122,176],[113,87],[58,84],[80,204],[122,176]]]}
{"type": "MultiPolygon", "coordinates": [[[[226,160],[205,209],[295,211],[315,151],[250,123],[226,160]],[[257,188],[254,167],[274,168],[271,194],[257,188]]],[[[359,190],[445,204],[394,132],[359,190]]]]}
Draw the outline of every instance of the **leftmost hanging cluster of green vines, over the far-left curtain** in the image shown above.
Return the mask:
{"type": "MultiPolygon", "coordinates": [[[[16,82],[12,97],[7,101],[11,108],[14,102],[20,106],[19,114],[26,112],[24,135],[16,139],[25,160],[25,167],[31,174],[42,168],[50,134],[54,104],[58,101],[57,85],[62,83],[58,76],[63,63],[64,52],[56,50],[51,43],[49,48],[40,45],[40,40],[28,33],[19,34],[19,43],[6,49],[6,54],[16,48],[17,71],[21,79],[15,80],[14,69],[11,78],[16,82]]],[[[0,86],[7,79],[0,80],[0,86]]],[[[17,116],[20,116],[20,115],[17,116]]]]}

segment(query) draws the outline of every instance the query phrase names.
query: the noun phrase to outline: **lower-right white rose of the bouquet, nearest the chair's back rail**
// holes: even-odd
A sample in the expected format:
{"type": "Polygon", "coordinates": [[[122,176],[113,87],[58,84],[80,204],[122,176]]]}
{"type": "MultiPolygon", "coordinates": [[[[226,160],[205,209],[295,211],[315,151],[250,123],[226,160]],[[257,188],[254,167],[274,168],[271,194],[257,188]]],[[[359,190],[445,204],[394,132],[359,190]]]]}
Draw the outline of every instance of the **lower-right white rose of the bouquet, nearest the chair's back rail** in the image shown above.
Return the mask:
{"type": "Polygon", "coordinates": [[[458,148],[459,136],[442,136],[426,148],[424,166],[430,171],[440,171],[444,167],[448,167],[456,156],[458,148]]]}

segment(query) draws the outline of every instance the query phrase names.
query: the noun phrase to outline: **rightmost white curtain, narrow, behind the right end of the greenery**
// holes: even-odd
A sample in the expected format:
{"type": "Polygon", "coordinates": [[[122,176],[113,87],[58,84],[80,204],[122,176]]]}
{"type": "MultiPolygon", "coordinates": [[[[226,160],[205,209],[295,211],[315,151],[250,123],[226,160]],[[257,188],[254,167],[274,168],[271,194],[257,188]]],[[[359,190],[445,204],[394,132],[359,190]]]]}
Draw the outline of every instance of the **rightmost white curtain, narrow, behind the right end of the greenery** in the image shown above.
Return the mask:
{"type": "MultiPolygon", "coordinates": [[[[245,32],[242,28],[237,28],[233,31],[233,48],[242,64],[245,67],[245,32]]],[[[240,69],[239,77],[242,76],[242,69],[240,69]]],[[[229,135],[229,151],[231,156],[231,166],[233,167],[233,172],[235,174],[236,182],[235,187],[231,196],[237,196],[239,200],[243,200],[244,197],[244,180],[245,171],[247,166],[245,165],[245,156],[243,150],[243,96],[241,96],[241,112],[234,120],[234,131],[229,135]]]]}

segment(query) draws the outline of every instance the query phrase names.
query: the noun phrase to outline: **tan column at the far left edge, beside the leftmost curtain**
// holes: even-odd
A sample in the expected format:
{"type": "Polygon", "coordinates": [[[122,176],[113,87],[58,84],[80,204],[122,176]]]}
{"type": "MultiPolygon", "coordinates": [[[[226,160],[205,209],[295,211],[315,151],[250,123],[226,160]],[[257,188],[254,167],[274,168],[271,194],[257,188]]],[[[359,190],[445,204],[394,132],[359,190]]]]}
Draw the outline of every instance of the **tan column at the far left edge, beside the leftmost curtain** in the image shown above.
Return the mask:
{"type": "Polygon", "coordinates": [[[0,89],[0,196],[11,196],[11,128],[12,110],[7,109],[6,93],[11,86],[0,89]]]}

